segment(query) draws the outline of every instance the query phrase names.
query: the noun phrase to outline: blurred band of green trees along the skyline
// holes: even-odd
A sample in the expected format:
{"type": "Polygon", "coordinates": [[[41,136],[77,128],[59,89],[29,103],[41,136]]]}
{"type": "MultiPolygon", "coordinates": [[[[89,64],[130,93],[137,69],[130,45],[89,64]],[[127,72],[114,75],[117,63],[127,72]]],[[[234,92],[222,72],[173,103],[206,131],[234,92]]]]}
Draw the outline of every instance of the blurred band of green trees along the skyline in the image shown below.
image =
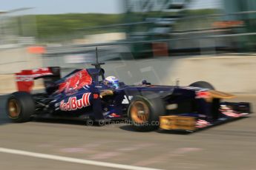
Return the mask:
{"type": "MultiPolygon", "coordinates": [[[[183,16],[203,16],[220,13],[218,10],[183,10],[183,16]]],[[[124,32],[124,31],[146,31],[149,25],[131,27],[105,27],[93,28],[110,24],[132,23],[145,21],[145,18],[158,18],[163,16],[179,15],[179,13],[149,12],[149,13],[122,13],[122,14],[102,14],[102,13],[68,13],[57,15],[29,15],[16,16],[10,19],[9,27],[16,35],[36,36],[39,42],[69,41],[73,38],[82,38],[83,35],[96,33],[124,32]]],[[[197,18],[193,21],[182,20],[176,26],[176,30],[184,30],[187,25],[190,28],[208,27],[212,19],[197,18]]]]}

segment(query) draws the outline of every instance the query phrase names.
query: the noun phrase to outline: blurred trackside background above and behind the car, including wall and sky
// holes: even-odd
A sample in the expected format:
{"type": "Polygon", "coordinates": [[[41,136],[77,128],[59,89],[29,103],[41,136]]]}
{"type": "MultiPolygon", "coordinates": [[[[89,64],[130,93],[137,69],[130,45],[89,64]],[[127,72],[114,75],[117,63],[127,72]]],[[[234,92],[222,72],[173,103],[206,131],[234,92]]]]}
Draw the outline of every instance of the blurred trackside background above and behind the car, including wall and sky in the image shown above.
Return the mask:
{"type": "Polygon", "coordinates": [[[95,47],[107,75],[126,84],[203,80],[227,92],[256,92],[254,0],[1,4],[0,93],[13,92],[21,69],[59,66],[66,75],[89,67],[95,47]]]}

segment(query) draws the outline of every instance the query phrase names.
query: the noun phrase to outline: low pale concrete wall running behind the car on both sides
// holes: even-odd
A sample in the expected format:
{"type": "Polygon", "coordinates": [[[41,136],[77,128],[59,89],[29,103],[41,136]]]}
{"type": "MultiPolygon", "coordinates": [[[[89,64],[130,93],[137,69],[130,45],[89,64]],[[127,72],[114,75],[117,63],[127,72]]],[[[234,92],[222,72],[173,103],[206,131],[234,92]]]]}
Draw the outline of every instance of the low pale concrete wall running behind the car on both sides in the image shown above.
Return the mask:
{"type": "MultiPolygon", "coordinates": [[[[65,64],[61,56],[41,58],[29,55],[24,49],[0,51],[0,93],[16,89],[13,75],[21,69],[60,66],[62,75],[74,68],[91,67],[90,64],[65,64]],[[71,68],[72,67],[72,68],[71,68]]],[[[216,89],[234,93],[256,93],[256,55],[222,55],[168,57],[145,60],[107,61],[106,75],[116,75],[125,84],[139,84],[143,79],[152,84],[180,85],[194,81],[209,81],[216,89]]],[[[42,81],[36,83],[42,87],[42,81]]],[[[36,88],[37,88],[36,87],[36,88]]]]}

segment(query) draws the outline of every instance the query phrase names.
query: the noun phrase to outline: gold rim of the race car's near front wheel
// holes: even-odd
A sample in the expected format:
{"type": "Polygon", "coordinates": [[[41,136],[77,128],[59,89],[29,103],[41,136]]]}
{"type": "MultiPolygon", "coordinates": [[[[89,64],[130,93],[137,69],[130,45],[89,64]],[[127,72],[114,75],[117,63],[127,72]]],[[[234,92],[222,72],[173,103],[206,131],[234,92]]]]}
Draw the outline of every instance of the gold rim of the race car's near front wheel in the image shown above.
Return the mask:
{"type": "Polygon", "coordinates": [[[135,101],[131,106],[131,119],[136,123],[145,123],[149,117],[148,105],[142,101],[135,101]]]}

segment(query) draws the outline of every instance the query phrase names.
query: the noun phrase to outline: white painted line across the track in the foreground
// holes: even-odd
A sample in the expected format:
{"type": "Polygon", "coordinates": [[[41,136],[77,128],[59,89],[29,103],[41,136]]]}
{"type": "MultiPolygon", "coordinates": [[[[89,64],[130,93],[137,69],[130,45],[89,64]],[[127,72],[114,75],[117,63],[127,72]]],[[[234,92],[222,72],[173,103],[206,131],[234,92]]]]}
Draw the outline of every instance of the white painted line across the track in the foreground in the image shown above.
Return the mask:
{"type": "Polygon", "coordinates": [[[77,159],[73,157],[62,157],[62,156],[57,156],[53,154],[41,154],[36,152],[27,152],[27,151],[22,151],[17,149],[7,149],[7,148],[1,148],[1,147],[0,147],[0,152],[7,153],[7,154],[19,154],[27,157],[38,157],[38,158],[43,158],[47,160],[59,160],[59,161],[64,161],[68,163],[80,163],[80,164],[91,165],[91,166],[103,166],[103,167],[114,168],[114,169],[160,170],[160,169],[151,169],[151,168],[146,168],[141,166],[128,166],[128,165],[122,165],[118,163],[105,163],[105,162],[100,162],[95,160],[83,160],[83,159],[77,159]]]}

